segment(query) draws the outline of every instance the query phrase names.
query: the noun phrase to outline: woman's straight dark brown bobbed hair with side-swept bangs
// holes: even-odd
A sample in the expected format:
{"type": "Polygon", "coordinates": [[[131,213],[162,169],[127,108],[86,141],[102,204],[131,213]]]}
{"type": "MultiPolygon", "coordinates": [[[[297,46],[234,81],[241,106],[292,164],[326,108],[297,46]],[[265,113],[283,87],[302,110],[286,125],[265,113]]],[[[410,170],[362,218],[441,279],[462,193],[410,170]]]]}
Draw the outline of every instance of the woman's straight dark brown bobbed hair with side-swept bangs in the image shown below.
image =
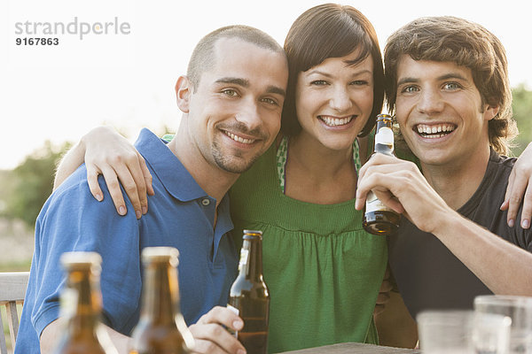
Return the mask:
{"type": "Polygon", "coordinates": [[[288,88],[281,119],[281,132],[296,135],[301,131],[295,110],[295,87],[299,73],[321,64],[327,58],[341,58],[359,49],[351,65],[368,56],[373,61],[373,107],[360,135],[367,135],[375,126],[375,117],[382,110],[384,69],[379,40],[372,23],[352,6],[321,4],[303,12],[286,35],[288,88]]]}

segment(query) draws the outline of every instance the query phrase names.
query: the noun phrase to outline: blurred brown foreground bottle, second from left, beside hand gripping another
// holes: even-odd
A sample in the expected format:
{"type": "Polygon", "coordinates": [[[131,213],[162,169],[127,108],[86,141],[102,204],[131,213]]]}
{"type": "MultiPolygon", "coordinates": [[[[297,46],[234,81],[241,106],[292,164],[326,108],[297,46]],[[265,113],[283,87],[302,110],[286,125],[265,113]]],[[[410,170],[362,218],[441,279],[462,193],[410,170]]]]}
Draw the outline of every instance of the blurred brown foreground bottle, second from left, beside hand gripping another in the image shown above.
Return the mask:
{"type": "Polygon", "coordinates": [[[129,353],[191,352],[193,338],[179,304],[179,252],[173,247],[146,247],[141,257],[144,266],[142,304],[129,353]]]}

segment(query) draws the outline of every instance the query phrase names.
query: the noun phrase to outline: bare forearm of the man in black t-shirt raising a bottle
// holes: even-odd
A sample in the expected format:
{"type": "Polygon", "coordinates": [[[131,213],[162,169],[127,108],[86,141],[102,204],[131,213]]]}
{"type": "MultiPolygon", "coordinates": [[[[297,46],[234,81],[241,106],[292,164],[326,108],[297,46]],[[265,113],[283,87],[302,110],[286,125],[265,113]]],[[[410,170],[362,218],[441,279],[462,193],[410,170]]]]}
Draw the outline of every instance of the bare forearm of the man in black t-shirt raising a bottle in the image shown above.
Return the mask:
{"type": "Polygon", "coordinates": [[[495,294],[532,296],[532,254],[458,212],[434,235],[495,294]]]}

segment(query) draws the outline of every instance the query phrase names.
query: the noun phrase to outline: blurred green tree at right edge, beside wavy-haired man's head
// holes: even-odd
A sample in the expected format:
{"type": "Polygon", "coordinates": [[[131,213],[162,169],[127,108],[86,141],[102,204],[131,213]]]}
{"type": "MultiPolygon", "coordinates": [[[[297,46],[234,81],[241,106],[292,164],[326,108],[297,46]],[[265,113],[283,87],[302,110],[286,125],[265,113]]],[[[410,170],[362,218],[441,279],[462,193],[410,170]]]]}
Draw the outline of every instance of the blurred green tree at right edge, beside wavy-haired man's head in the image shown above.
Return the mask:
{"type": "Polygon", "coordinates": [[[528,91],[524,85],[512,89],[513,118],[517,120],[519,136],[515,139],[515,148],[512,152],[519,156],[528,142],[532,142],[532,91],[528,91]]]}

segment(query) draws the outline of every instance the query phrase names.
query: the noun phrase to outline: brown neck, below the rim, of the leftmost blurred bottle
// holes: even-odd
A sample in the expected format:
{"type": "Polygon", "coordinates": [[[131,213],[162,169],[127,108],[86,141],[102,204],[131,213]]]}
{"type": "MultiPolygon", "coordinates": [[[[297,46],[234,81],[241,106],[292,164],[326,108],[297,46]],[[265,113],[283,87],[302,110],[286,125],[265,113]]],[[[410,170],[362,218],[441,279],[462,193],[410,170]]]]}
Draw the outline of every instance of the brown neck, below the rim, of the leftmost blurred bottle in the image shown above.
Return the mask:
{"type": "Polygon", "coordinates": [[[69,330],[77,334],[93,334],[102,306],[99,276],[92,274],[90,269],[71,271],[62,296],[69,330]]]}

